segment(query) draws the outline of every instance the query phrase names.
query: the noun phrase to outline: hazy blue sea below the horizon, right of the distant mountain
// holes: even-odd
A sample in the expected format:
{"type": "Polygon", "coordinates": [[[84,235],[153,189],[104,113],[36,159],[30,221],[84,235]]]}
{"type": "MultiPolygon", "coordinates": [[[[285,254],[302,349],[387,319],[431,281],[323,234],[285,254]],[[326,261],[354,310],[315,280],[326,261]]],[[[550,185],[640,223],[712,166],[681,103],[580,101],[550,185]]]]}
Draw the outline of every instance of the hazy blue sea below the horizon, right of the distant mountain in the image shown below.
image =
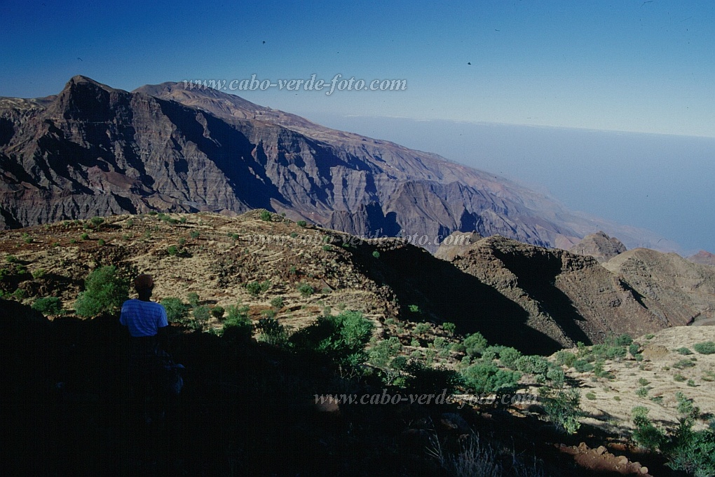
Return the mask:
{"type": "Polygon", "coordinates": [[[521,182],[572,210],[715,252],[715,138],[397,117],[305,116],[521,182]]]}

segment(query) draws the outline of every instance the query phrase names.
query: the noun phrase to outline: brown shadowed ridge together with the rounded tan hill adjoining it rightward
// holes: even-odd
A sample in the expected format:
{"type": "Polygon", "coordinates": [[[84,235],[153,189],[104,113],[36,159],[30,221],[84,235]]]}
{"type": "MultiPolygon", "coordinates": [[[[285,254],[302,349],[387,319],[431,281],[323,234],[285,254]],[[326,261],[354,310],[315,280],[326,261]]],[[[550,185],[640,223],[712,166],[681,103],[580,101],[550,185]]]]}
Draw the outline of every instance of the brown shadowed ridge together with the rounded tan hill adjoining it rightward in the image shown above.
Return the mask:
{"type": "Polygon", "coordinates": [[[435,256],[516,303],[528,327],[563,346],[715,318],[714,270],[675,253],[635,249],[599,263],[505,237],[468,238],[435,256]]]}

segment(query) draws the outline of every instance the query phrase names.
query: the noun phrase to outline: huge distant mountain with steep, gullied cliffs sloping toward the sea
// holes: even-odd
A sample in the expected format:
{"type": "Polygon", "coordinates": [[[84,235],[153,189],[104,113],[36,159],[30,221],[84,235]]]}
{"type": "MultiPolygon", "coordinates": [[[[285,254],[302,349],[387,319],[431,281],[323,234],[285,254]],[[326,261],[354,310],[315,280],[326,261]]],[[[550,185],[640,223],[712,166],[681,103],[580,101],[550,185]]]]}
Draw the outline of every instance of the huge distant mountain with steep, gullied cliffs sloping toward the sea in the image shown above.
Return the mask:
{"type": "Polygon", "coordinates": [[[212,89],[73,77],[53,97],[0,99],[0,227],[257,207],[432,251],[455,230],[563,246],[593,227],[503,178],[212,89]]]}

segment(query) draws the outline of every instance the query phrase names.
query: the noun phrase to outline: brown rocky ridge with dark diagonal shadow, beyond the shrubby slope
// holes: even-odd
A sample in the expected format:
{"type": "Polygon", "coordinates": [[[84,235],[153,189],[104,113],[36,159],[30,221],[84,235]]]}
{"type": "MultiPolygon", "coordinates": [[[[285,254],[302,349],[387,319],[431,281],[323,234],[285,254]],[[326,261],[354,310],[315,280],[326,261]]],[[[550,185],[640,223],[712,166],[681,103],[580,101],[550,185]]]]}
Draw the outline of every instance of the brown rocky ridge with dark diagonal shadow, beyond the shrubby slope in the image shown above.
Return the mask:
{"type": "Polygon", "coordinates": [[[469,245],[443,245],[435,256],[512,300],[528,315],[528,326],[563,346],[686,324],[673,303],[644,297],[593,257],[498,236],[470,238],[469,245]]]}

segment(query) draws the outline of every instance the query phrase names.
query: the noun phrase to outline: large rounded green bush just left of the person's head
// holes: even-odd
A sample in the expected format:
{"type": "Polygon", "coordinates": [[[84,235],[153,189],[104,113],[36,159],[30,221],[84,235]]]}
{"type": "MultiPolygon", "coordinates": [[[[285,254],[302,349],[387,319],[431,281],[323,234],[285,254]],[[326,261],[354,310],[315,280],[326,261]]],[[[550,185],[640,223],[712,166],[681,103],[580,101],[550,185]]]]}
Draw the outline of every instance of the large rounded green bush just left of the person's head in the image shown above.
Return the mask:
{"type": "Polygon", "coordinates": [[[100,313],[115,314],[129,299],[129,283],[117,275],[117,267],[107,265],[92,271],[84,280],[84,291],[77,296],[77,315],[91,318],[100,313]]]}

